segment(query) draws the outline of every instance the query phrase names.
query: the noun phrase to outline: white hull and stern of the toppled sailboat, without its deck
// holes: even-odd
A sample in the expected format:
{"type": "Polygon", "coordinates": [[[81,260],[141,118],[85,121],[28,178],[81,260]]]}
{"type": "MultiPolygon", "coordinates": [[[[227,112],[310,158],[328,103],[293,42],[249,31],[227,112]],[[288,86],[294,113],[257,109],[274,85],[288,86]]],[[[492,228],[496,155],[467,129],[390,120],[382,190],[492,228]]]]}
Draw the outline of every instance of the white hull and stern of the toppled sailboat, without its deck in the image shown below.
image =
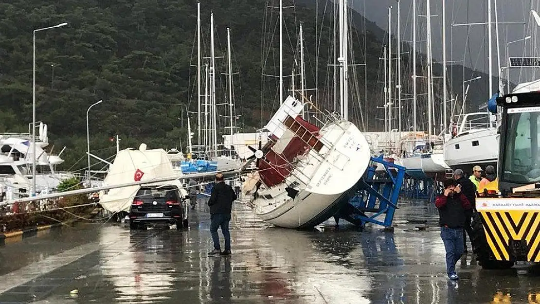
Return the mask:
{"type": "Polygon", "coordinates": [[[333,146],[325,145],[320,153],[310,150],[283,183],[259,189],[253,206],[262,220],[285,228],[313,227],[347,202],[369,165],[369,145],[349,121],[329,124],[320,134],[320,141],[333,146]],[[291,195],[287,189],[294,184],[297,192],[291,195]]]}

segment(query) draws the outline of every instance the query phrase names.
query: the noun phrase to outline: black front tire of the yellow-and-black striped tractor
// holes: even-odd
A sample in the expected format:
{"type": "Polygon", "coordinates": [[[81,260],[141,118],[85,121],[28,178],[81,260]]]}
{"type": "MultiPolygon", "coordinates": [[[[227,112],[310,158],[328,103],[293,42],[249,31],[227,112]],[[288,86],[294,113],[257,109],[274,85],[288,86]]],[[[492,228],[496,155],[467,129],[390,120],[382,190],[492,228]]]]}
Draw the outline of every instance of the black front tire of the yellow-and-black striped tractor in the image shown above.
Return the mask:
{"type": "Polygon", "coordinates": [[[498,261],[491,258],[491,248],[489,247],[488,240],[485,238],[482,215],[479,212],[474,212],[471,226],[473,227],[471,244],[473,245],[473,252],[476,255],[478,265],[484,269],[508,269],[514,266],[514,261],[498,261]]]}

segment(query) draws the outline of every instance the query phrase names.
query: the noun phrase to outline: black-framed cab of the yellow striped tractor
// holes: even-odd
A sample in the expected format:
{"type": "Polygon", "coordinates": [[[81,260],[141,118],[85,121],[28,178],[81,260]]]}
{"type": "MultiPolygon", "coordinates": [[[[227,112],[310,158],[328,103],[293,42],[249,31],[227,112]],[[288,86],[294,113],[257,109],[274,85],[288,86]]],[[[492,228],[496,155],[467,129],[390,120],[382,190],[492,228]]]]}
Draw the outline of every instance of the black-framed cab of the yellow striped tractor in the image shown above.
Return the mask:
{"type": "Polygon", "coordinates": [[[540,183],[540,91],[497,98],[502,109],[498,187],[503,197],[512,189],[540,183]]]}

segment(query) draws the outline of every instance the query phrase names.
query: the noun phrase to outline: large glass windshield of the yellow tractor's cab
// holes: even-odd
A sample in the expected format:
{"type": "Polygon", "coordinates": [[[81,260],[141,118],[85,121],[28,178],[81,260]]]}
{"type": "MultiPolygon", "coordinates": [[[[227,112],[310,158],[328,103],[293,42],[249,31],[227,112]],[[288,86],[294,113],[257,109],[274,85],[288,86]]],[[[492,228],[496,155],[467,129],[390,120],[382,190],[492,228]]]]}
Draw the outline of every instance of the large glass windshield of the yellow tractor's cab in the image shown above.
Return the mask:
{"type": "Polygon", "coordinates": [[[508,109],[502,179],[509,183],[540,181],[540,107],[508,109]]]}

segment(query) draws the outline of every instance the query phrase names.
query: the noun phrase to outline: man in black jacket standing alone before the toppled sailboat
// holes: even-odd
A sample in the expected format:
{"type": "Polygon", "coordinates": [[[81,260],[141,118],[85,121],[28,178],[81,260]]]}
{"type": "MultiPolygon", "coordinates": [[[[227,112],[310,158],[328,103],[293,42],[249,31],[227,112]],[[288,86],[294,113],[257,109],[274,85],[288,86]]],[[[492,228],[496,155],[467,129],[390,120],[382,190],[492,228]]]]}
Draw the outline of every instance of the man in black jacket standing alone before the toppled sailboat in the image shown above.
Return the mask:
{"type": "Polygon", "coordinates": [[[208,199],[208,206],[210,206],[210,234],[212,234],[212,240],[214,242],[214,250],[209,252],[208,255],[231,254],[231,234],[229,233],[229,222],[231,221],[231,209],[233,202],[237,199],[236,193],[231,186],[223,182],[223,174],[218,173],[215,175],[215,186],[208,199]],[[221,252],[219,246],[218,228],[221,227],[221,233],[225,238],[225,251],[221,252]]]}

